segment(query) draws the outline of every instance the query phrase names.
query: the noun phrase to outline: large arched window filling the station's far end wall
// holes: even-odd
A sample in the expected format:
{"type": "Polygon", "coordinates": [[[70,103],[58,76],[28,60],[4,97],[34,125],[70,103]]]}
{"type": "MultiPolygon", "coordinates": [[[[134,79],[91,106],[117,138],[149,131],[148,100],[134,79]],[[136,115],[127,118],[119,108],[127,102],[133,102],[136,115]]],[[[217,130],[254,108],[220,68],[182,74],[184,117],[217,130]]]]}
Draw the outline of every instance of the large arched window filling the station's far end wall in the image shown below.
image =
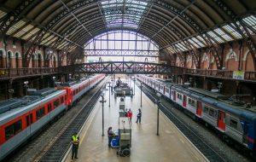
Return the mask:
{"type": "Polygon", "coordinates": [[[159,46],[149,38],[130,31],[105,32],[84,45],[87,61],[148,61],[155,62],[159,46]],[[108,55],[108,56],[106,56],[108,55]],[[124,57],[123,57],[124,56],[124,57]]]}

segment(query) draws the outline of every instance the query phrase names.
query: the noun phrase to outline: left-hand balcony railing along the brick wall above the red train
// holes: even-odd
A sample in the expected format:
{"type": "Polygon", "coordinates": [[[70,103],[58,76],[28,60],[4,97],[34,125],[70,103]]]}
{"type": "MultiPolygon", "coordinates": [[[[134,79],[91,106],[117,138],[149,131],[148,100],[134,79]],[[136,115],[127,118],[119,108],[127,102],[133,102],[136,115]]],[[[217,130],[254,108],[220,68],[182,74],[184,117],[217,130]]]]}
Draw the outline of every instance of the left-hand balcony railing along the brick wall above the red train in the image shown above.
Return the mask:
{"type": "Polygon", "coordinates": [[[37,68],[0,68],[1,78],[26,77],[32,75],[45,75],[60,72],[57,67],[37,67],[37,68]]]}

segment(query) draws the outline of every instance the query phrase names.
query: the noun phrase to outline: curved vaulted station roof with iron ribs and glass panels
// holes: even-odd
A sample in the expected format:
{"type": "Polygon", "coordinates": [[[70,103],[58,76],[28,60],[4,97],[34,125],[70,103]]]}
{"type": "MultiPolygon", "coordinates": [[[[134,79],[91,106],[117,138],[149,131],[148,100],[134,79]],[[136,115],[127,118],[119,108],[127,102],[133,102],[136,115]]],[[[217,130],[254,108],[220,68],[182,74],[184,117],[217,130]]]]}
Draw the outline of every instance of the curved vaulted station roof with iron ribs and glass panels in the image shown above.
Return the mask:
{"type": "Polygon", "coordinates": [[[115,30],[138,32],[170,54],[256,31],[255,0],[0,0],[0,5],[1,35],[40,39],[69,51],[115,30]]]}

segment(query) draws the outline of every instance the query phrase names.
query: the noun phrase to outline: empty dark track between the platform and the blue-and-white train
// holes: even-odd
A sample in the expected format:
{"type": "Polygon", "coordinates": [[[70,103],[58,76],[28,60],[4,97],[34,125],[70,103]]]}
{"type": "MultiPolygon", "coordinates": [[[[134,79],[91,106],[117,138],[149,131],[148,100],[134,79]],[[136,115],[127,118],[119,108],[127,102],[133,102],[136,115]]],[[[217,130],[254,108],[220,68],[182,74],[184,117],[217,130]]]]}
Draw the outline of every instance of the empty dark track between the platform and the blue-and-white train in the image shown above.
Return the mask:
{"type": "MultiPolygon", "coordinates": [[[[138,85],[138,84],[137,84],[138,85]]],[[[139,87],[139,86],[138,86],[139,87]]],[[[150,93],[150,90],[143,86],[143,93],[148,96],[148,98],[151,101],[156,101],[156,94],[155,93],[150,93]]],[[[183,135],[186,136],[190,142],[192,142],[197,149],[201,151],[201,153],[204,154],[204,156],[211,162],[225,162],[226,160],[224,157],[222,157],[219,153],[214,151],[207,142],[204,142],[204,140],[201,139],[200,136],[197,135],[195,131],[189,128],[189,126],[181,119],[178,119],[178,117],[172,113],[172,110],[162,103],[159,104],[160,110],[162,113],[166,115],[168,119],[172,121],[173,124],[177,126],[177,129],[179,129],[181,132],[183,132],[183,135]]]]}

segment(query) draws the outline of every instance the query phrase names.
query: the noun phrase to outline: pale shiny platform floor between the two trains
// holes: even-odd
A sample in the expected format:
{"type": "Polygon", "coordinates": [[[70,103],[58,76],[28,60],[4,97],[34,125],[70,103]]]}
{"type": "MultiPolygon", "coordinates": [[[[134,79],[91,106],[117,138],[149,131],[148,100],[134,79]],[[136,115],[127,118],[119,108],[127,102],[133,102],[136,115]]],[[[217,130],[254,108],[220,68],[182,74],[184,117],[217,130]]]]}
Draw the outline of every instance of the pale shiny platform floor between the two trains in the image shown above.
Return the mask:
{"type": "MultiPolygon", "coordinates": [[[[132,83],[133,84],[133,83],[132,83]]],[[[133,85],[132,85],[133,86],[133,85]]],[[[207,161],[205,157],[184,137],[172,122],[160,113],[160,136],[156,136],[157,109],[143,94],[142,124],[136,124],[137,109],[140,107],[140,90],[136,87],[133,98],[125,98],[125,107],[131,108],[132,140],[131,156],[118,157],[117,149],[108,148],[108,126],[118,130],[119,98],[111,95],[108,107],[108,91],[105,92],[104,107],[105,136],[102,137],[102,106],[98,102],[80,134],[78,162],[189,162],[207,161]]],[[[71,153],[66,161],[71,160],[71,153]]]]}

